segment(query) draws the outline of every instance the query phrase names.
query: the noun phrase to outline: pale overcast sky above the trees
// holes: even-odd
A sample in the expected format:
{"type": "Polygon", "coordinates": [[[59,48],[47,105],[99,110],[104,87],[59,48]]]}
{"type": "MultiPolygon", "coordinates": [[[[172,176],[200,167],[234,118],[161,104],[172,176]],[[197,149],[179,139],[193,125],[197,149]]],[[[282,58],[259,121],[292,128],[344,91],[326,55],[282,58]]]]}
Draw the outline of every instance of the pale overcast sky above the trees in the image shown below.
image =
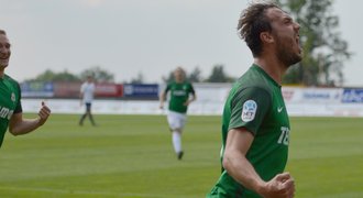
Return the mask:
{"type": "MultiPolygon", "coordinates": [[[[162,82],[176,66],[196,66],[207,77],[215,64],[239,77],[252,55],[235,31],[251,0],[0,0],[0,29],[12,43],[6,73],[19,81],[45,69],[79,74],[100,66],[116,80],[141,73],[162,82]]],[[[345,86],[363,87],[359,34],[363,1],[336,0],[342,37],[354,56],[345,63],[345,86]],[[348,3],[351,2],[351,3],[348,3]]]]}

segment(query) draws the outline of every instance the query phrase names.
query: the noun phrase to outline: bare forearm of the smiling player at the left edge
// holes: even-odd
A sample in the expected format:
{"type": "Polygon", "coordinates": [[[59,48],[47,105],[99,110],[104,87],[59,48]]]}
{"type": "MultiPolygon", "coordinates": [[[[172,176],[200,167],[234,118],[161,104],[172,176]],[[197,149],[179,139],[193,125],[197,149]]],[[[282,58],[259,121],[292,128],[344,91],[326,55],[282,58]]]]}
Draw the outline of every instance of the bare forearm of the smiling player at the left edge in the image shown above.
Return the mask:
{"type": "Polygon", "coordinates": [[[21,122],[11,124],[9,127],[9,131],[13,135],[22,135],[30,133],[37,129],[38,127],[43,125],[44,122],[40,118],[36,119],[24,119],[21,122]]]}

